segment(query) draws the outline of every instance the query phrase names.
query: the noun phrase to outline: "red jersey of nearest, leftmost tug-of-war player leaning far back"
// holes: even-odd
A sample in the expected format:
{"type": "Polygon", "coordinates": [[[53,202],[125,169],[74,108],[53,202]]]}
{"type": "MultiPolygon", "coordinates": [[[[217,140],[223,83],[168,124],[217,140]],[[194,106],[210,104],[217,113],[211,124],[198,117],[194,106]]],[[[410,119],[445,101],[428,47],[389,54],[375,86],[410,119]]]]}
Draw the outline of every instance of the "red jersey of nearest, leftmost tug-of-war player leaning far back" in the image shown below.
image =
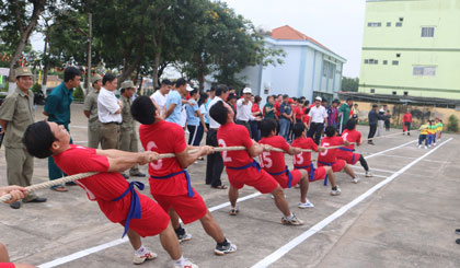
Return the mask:
{"type": "MultiPolygon", "coordinates": [[[[112,200],[122,196],[129,187],[129,183],[120,173],[107,172],[110,164],[106,156],[96,154],[95,149],[70,144],[69,149],[53,158],[56,165],[67,175],[100,172],[96,175],[78,179],[76,183],[87,191],[90,200],[97,201],[108,220],[112,222],[126,220],[131,195],[128,194],[118,201],[112,200]]],[[[140,200],[142,206],[145,200],[143,198],[140,200]]]]}

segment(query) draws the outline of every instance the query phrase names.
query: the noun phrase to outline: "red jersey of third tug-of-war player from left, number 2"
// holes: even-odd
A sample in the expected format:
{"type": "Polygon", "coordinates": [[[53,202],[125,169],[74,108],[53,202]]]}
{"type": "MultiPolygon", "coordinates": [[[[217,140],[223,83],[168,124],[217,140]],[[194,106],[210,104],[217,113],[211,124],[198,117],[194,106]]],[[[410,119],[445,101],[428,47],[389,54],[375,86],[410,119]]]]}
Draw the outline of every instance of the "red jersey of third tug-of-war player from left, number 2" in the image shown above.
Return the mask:
{"type": "MultiPolygon", "coordinates": [[[[217,141],[219,147],[245,147],[248,150],[252,147],[252,140],[248,129],[244,126],[234,123],[228,123],[220,126],[217,130],[217,141]]],[[[231,167],[240,167],[253,162],[248,151],[223,151],[223,164],[231,167]]]]}

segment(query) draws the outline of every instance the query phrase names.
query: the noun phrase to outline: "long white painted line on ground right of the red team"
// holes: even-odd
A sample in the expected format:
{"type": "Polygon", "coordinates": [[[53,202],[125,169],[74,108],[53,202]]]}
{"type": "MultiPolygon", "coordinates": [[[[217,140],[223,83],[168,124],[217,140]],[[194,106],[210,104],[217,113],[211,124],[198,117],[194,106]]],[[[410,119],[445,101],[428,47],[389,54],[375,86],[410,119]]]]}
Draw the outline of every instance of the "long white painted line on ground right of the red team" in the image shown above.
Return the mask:
{"type": "Polygon", "coordinates": [[[343,206],[342,208],[340,208],[338,210],[336,210],[334,213],[332,213],[331,215],[329,215],[324,220],[320,221],[319,223],[314,224],[312,228],[310,228],[309,230],[307,230],[306,232],[303,232],[302,234],[300,234],[296,238],[291,240],[286,245],[281,246],[280,248],[278,248],[277,250],[275,250],[271,255],[268,255],[265,258],[263,258],[261,261],[258,261],[257,264],[255,264],[254,266],[252,266],[252,268],[265,268],[265,267],[268,267],[269,265],[272,265],[273,263],[275,263],[276,260],[278,260],[279,258],[281,258],[284,255],[286,255],[287,253],[289,253],[292,248],[295,248],[299,244],[303,243],[307,238],[309,238],[313,234],[318,233],[319,231],[321,231],[322,229],[324,229],[325,226],[327,226],[331,222],[333,222],[334,220],[336,220],[337,218],[340,218],[341,215],[343,215],[349,209],[354,208],[356,205],[358,205],[359,202],[361,202],[367,197],[371,196],[373,193],[376,193],[378,189],[380,189],[384,185],[391,183],[394,178],[396,178],[398,176],[400,176],[401,174],[403,174],[404,172],[406,172],[409,168],[411,168],[412,166],[414,166],[416,163],[421,162],[423,159],[425,159],[429,154],[434,153],[436,150],[438,150],[439,148],[441,148],[444,144],[446,144],[450,140],[452,140],[452,138],[446,140],[445,142],[442,142],[441,144],[439,144],[437,148],[435,148],[432,151],[425,153],[424,155],[419,156],[418,159],[412,161],[410,164],[405,165],[403,168],[399,170],[396,173],[394,173],[393,175],[389,176],[387,179],[380,182],[379,184],[377,184],[376,186],[373,186],[372,188],[370,188],[369,190],[367,190],[363,195],[358,196],[353,201],[350,201],[347,205],[343,206]]]}

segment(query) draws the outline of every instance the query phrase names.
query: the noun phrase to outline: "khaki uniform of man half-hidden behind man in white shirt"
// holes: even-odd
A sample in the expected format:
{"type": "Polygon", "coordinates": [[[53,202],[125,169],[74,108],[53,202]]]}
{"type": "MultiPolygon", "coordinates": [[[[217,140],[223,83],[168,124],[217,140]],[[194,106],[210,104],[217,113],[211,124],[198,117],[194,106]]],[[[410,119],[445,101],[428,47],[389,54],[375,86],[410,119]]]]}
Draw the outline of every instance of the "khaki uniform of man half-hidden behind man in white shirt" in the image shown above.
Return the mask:
{"type": "Polygon", "coordinates": [[[84,98],[83,109],[90,112],[88,119],[88,147],[97,149],[101,143],[101,121],[97,116],[99,91],[92,91],[84,98]]]}

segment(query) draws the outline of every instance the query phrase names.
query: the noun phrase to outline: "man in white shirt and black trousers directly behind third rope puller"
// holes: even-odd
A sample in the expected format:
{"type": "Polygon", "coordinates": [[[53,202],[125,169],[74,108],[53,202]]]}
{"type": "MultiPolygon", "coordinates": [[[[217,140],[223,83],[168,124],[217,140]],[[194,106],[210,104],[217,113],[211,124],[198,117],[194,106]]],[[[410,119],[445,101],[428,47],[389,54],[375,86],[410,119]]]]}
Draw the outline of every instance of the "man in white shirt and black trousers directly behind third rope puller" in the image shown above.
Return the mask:
{"type": "MultiPolygon", "coordinates": [[[[216,88],[216,96],[208,105],[208,115],[209,109],[215,105],[217,102],[225,102],[227,100],[229,89],[227,85],[219,84],[216,88]]],[[[209,116],[209,130],[206,135],[206,145],[211,147],[219,147],[217,142],[217,130],[219,129],[220,124],[217,123],[212,117],[209,116]]],[[[210,185],[212,188],[216,189],[227,189],[226,185],[222,185],[220,180],[220,175],[223,171],[223,161],[222,156],[219,152],[215,152],[212,154],[208,154],[207,162],[206,162],[206,184],[210,185]]]]}

